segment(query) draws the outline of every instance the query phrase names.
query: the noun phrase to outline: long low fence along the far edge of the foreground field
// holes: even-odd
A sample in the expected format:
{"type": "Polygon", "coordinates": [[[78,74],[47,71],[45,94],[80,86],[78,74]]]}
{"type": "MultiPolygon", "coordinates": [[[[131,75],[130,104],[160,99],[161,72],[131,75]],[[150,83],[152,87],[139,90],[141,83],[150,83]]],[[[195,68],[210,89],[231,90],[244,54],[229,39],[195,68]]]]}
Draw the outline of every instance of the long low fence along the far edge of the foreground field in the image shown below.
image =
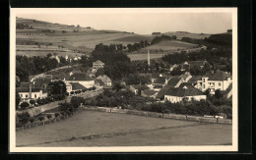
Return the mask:
{"type": "Polygon", "coordinates": [[[109,112],[109,113],[118,113],[118,114],[130,114],[130,115],[192,121],[192,122],[209,123],[209,124],[224,124],[224,125],[232,124],[232,120],[218,119],[218,118],[205,118],[205,117],[198,117],[198,116],[166,114],[166,113],[137,111],[137,110],[128,110],[128,109],[116,109],[116,108],[106,108],[106,107],[96,107],[96,106],[84,106],[83,108],[85,110],[90,110],[90,111],[109,112]]]}

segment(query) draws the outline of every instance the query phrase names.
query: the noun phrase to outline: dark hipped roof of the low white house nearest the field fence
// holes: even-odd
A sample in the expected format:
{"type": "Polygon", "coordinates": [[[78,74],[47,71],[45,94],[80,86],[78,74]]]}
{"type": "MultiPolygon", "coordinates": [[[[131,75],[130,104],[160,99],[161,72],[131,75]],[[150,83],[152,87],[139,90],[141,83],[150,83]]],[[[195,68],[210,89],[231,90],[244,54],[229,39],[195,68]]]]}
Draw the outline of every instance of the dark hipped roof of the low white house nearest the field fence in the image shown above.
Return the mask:
{"type": "Polygon", "coordinates": [[[172,88],[169,88],[164,95],[184,97],[184,96],[204,95],[204,93],[195,87],[187,87],[187,88],[172,87],[172,88]]]}

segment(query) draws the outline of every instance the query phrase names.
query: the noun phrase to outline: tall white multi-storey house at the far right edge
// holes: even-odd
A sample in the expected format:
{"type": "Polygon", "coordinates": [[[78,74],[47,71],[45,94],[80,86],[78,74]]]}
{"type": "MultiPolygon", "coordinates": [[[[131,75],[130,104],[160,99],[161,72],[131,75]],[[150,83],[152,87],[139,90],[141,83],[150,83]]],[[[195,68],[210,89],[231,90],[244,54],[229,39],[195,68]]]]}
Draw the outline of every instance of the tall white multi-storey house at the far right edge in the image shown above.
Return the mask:
{"type": "Polygon", "coordinates": [[[197,88],[206,91],[210,90],[211,94],[215,94],[217,89],[226,90],[229,84],[232,82],[230,74],[217,71],[215,73],[208,73],[200,80],[197,80],[197,88]]]}

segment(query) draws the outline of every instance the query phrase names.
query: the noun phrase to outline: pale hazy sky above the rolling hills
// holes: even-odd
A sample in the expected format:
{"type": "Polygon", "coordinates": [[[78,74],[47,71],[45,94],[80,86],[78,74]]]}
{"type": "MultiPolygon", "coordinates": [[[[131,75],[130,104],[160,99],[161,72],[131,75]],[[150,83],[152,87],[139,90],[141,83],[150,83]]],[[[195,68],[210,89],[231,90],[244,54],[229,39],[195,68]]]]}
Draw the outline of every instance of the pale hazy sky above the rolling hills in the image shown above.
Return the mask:
{"type": "Polygon", "coordinates": [[[95,29],[133,31],[139,34],[151,34],[155,31],[221,33],[232,27],[231,13],[65,13],[17,14],[17,17],[95,29]]]}

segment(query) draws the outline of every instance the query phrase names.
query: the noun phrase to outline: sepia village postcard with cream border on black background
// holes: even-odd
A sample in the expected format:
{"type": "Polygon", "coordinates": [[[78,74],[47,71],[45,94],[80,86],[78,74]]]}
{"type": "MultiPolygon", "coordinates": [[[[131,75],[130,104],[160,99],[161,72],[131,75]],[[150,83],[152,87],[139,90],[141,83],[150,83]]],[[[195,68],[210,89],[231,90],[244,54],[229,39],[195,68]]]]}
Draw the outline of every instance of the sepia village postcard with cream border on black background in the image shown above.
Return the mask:
{"type": "Polygon", "coordinates": [[[236,8],[10,21],[10,152],[237,151],[236,8]]]}

